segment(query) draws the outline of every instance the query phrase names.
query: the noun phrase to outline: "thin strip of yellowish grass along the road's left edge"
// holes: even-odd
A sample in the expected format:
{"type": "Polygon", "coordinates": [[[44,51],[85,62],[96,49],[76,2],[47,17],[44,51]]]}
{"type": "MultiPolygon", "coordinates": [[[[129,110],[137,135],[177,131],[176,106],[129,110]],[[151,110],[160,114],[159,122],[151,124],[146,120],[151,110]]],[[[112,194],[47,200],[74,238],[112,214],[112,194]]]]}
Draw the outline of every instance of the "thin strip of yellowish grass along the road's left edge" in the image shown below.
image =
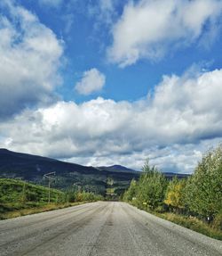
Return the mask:
{"type": "Polygon", "coordinates": [[[1,204],[0,209],[11,209],[11,211],[4,211],[4,213],[0,213],[0,219],[12,219],[20,216],[25,216],[29,214],[40,213],[44,211],[53,211],[58,209],[67,208],[70,206],[75,206],[79,204],[83,204],[86,202],[68,202],[68,203],[50,203],[45,205],[36,205],[32,208],[29,208],[27,205],[24,206],[23,209],[16,209],[16,205],[9,205],[9,204],[1,204]]]}

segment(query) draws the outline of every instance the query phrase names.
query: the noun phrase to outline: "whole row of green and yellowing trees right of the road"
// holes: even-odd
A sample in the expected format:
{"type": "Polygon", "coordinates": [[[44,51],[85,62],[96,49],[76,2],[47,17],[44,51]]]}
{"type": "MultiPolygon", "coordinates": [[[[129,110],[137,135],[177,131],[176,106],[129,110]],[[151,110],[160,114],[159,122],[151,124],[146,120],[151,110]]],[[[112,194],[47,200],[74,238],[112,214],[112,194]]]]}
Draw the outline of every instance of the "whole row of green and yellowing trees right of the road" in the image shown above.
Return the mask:
{"type": "Polygon", "coordinates": [[[204,153],[189,178],[169,181],[147,161],[139,180],[131,181],[123,200],[140,209],[214,220],[222,229],[222,145],[204,153]]]}

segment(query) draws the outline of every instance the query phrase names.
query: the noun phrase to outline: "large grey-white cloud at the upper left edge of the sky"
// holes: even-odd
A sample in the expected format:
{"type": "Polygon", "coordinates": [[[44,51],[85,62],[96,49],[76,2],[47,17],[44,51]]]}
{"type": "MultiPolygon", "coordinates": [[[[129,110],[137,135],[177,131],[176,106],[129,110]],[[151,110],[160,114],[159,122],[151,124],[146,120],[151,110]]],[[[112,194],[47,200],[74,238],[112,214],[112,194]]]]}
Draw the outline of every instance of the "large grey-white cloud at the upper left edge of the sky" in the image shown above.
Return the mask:
{"type": "Polygon", "coordinates": [[[1,118],[52,101],[52,91],[61,82],[63,43],[35,14],[13,3],[0,4],[1,118]]]}

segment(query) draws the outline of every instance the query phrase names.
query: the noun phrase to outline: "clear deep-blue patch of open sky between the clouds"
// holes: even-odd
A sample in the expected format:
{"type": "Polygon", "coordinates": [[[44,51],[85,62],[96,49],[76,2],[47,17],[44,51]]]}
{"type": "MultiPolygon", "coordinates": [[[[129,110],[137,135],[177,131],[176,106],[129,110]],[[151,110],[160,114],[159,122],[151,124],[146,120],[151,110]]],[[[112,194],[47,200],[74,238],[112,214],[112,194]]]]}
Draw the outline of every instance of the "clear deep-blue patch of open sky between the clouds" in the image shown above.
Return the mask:
{"type": "MultiPolygon", "coordinates": [[[[70,91],[81,78],[83,71],[91,68],[97,68],[107,77],[106,86],[97,95],[112,98],[115,101],[135,101],[144,97],[149,90],[161,82],[163,75],[180,76],[194,63],[204,68],[206,66],[210,70],[221,67],[222,64],[219,35],[212,43],[206,43],[206,46],[201,45],[201,35],[196,38],[196,42],[176,52],[169,52],[160,61],[141,59],[124,69],[119,68],[118,65],[107,60],[107,47],[112,45],[112,24],[107,24],[102,18],[101,20],[98,18],[99,15],[103,15],[101,13],[103,1],[58,1],[58,4],[51,4],[54,1],[18,2],[35,13],[44,25],[64,41],[64,57],[67,63],[61,70],[61,76],[64,79],[65,88],[59,88],[59,93],[65,100],[85,101],[85,97],[75,92],[70,95],[70,91]]],[[[113,3],[115,12],[119,13],[119,15],[110,13],[109,19],[113,19],[113,22],[118,21],[127,1],[123,1],[124,4],[118,3],[122,1],[104,1],[106,2],[113,3]]],[[[139,1],[135,1],[137,2],[139,1]]],[[[93,97],[95,94],[87,99],[93,97]]]]}

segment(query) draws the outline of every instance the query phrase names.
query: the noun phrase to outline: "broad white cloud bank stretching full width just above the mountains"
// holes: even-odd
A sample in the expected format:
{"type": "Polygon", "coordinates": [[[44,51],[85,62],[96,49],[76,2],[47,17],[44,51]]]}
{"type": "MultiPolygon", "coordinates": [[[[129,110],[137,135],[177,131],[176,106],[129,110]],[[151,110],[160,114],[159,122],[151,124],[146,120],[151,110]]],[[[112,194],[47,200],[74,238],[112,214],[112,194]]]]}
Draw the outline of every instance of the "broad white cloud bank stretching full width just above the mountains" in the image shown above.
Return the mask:
{"type": "Polygon", "coordinates": [[[222,70],[165,76],[138,102],[101,97],[23,111],[0,123],[0,146],[89,165],[140,169],[149,157],[163,170],[191,172],[222,138],[222,70]]]}

